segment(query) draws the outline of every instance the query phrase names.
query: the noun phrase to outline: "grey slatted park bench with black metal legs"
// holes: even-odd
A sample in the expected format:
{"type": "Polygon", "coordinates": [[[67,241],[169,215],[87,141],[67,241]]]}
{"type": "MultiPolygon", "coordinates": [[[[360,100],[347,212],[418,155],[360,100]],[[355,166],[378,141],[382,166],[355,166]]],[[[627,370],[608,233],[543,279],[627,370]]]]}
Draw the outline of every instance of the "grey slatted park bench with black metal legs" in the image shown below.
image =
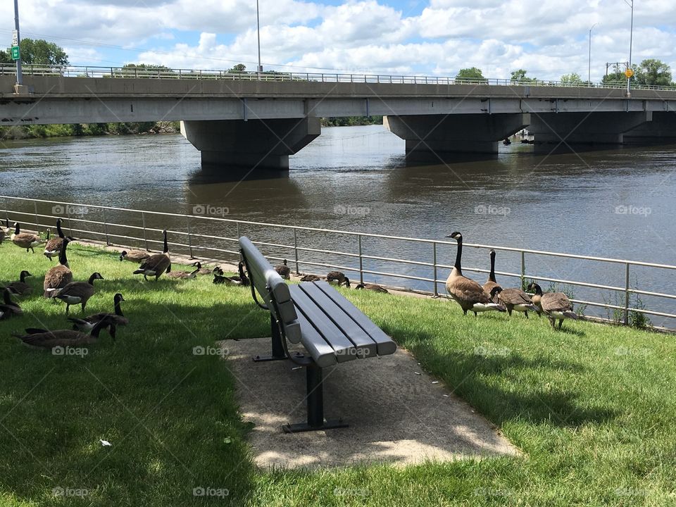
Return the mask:
{"type": "Polygon", "coordinates": [[[306,368],[307,422],[283,425],[282,430],[293,433],[346,427],[342,419],[324,419],[323,368],[391,354],[396,344],[327,282],[286,284],[249,238],[239,238],[239,246],[251,279],[253,301],[270,312],[272,354],[256,356],[253,361],[289,359],[306,368]],[[287,340],[302,344],[306,353],[290,354],[287,340]]]}

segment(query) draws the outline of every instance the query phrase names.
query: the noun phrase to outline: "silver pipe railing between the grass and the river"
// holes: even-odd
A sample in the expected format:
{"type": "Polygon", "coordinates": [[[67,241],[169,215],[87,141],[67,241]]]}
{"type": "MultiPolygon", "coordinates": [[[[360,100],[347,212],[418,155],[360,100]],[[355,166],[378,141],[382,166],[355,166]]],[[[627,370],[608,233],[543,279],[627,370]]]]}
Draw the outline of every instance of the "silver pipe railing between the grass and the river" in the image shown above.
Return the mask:
{"type": "MultiPolygon", "coordinates": [[[[247,235],[271,260],[288,259],[296,273],[342,270],[353,280],[374,280],[430,296],[445,296],[444,278],[453,266],[444,263],[442,253],[448,254],[449,250],[453,253],[456,246],[453,241],[437,239],[223,218],[210,215],[211,209],[201,205],[194,206],[194,214],[187,215],[13,196],[0,196],[0,201],[0,220],[6,219],[10,225],[17,221],[28,230],[54,227],[56,219],[62,218],[63,230],[76,239],[108,246],[158,249],[162,241],[161,230],[166,228],[173,253],[219,261],[239,260],[237,239],[247,235]]],[[[217,211],[223,210],[218,208],[217,211]]],[[[465,272],[489,273],[484,268],[470,267],[470,262],[475,259],[485,265],[489,249],[494,249],[500,252],[500,265],[513,268],[496,271],[504,287],[523,286],[530,280],[541,284],[549,282],[551,287],[568,290],[571,301],[578,307],[590,306],[605,311],[605,320],[628,325],[651,315],[663,319],[656,327],[676,330],[676,294],[648,290],[646,285],[639,288],[638,278],[632,285],[632,275],[638,275],[641,280],[659,279],[659,287],[673,290],[676,265],[508,246],[464,245],[467,247],[466,258],[463,257],[465,272]],[[575,268],[567,268],[570,273],[575,273],[575,280],[552,275],[557,271],[551,269],[551,259],[561,265],[578,263],[575,268]],[[590,264],[596,268],[595,272],[585,271],[590,264]],[[592,281],[587,273],[596,273],[598,281],[592,281]],[[573,289],[587,291],[583,295],[588,296],[576,298],[573,289]],[[641,298],[649,302],[645,303],[641,298]]]]}

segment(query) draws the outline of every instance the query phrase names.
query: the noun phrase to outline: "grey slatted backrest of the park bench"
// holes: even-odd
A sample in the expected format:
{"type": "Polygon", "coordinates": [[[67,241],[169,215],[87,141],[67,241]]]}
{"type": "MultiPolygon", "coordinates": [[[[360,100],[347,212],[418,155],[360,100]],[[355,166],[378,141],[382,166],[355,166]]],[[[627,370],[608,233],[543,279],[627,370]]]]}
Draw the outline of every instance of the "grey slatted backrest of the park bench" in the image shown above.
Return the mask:
{"type": "Polygon", "coordinates": [[[292,343],[300,342],[301,325],[298,322],[298,314],[294,308],[294,301],[291,299],[289,286],[263,256],[263,253],[251,242],[251,239],[242,236],[239,238],[239,246],[256,291],[261,295],[270,313],[284,328],[287,339],[292,343]]]}

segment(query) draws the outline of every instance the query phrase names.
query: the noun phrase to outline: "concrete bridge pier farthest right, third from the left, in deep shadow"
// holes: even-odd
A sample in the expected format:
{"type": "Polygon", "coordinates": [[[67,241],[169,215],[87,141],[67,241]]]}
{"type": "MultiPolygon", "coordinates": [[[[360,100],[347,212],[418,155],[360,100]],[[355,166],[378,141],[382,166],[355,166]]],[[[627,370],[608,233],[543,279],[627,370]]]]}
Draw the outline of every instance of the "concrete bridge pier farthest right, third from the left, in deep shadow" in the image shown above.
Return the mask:
{"type": "Polygon", "coordinates": [[[650,111],[601,113],[538,113],[528,131],[536,151],[573,146],[620,146],[622,134],[651,121],[650,111]]]}

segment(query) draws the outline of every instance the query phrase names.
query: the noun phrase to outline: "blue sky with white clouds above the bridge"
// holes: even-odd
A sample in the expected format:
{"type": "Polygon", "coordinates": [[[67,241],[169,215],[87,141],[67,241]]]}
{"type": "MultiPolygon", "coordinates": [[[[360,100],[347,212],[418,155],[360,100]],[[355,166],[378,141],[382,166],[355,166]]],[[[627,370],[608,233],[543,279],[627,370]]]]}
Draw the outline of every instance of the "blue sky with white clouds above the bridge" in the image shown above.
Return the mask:
{"type": "MultiPolygon", "coordinates": [[[[587,78],[629,59],[632,0],[258,0],[263,70],[453,77],[587,78]],[[627,3],[628,2],[628,3],[627,3]]],[[[13,0],[0,0],[11,45],[13,0]]],[[[256,0],[19,0],[21,36],[71,65],[256,70],[256,0]]],[[[635,0],[632,62],[676,70],[676,1],[635,0]]]]}

